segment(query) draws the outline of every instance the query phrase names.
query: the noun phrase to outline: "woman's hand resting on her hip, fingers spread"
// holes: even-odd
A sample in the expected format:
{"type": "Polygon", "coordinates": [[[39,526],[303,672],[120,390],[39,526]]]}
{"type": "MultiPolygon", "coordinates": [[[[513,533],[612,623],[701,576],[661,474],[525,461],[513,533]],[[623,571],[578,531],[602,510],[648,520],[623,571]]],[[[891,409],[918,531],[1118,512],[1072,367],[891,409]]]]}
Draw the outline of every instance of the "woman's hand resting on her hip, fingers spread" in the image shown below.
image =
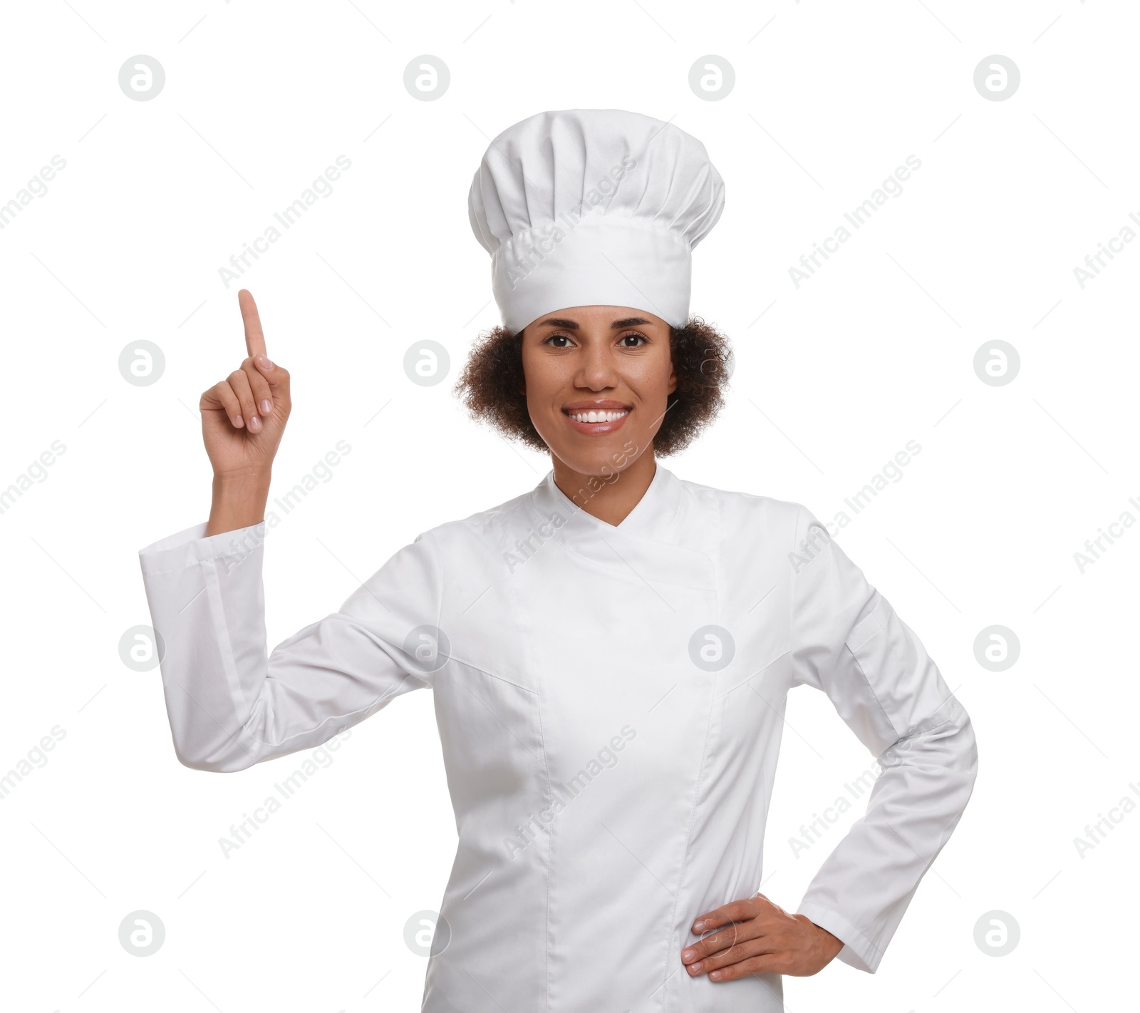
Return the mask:
{"type": "Polygon", "coordinates": [[[844,948],[826,929],[789,915],[764,894],[734,900],[699,915],[693,933],[706,935],[681,951],[690,975],[732,981],[748,974],[815,974],[844,948]]]}

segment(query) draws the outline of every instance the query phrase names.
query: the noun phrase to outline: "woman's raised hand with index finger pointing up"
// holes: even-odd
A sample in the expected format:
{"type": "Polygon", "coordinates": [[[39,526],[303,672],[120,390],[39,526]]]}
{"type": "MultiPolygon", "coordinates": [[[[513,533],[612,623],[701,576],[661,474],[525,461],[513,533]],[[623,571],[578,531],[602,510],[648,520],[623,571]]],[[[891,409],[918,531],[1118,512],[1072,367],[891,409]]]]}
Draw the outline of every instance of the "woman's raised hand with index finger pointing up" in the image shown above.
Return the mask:
{"type": "Polygon", "coordinates": [[[202,439],[213,465],[214,483],[268,483],[274,456],[292,408],[288,372],[270,362],[253,297],[237,293],[245,324],[242,365],[206,390],[202,439]]]}

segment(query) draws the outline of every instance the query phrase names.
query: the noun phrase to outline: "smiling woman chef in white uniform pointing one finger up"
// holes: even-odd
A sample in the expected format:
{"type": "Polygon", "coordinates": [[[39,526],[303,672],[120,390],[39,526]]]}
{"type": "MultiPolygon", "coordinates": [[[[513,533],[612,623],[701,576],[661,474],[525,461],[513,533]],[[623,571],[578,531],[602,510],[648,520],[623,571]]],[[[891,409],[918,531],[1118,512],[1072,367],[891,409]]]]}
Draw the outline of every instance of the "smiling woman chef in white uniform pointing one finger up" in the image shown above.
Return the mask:
{"type": "Polygon", "coordinates": [[[878,967],[970,796],[966,711],[815,517],[656,461],[719,405],[727,346],[690,321],[689,292],[723,203],[676,127],[616,110],[516,123],[471,188],[503,326],[459,391],[547,449],[546,477],[422,533],[267,655],[290,376],[243,291],[249,358],[201,403],[210,519],[140,551],[187,767],[243,770],[434,690],[458,850],[426,1013],[781,1010],[781,974],[878,967]],[[789,914],[757,886],[800,683],[883,771],[789,914]]]}

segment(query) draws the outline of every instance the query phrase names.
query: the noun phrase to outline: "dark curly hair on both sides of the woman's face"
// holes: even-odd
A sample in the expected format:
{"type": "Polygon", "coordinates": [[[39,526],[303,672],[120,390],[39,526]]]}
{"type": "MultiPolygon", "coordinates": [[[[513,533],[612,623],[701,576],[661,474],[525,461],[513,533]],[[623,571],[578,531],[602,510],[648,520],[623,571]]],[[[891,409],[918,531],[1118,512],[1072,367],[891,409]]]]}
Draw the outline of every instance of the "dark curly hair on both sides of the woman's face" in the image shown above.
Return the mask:
{"type": "MultiPolygon", "coordinates": [[[[661,428],[653,437],[659,456],[683,451],[724,407],[732,374],[728,339],[700,317],[683,327],[669,327],[669,349],[677,389],[666,400],[661,428]]],[[[455,394],[471,416],[536,451],[548,447],[527,411],[523,384],[522,332],[506,327],[484,331],[475,341],[455,394]]]]}

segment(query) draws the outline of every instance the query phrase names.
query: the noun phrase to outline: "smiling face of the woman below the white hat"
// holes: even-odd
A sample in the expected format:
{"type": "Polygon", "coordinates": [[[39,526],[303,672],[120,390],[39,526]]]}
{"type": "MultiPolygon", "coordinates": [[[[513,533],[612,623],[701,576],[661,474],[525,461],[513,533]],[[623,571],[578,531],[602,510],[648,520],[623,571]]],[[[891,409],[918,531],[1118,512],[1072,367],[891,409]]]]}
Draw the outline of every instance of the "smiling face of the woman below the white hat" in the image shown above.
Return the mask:
{"type": "Polygon", "coordinates": [[[643,309],[576,306],[522,332],[527,408],[556,457],[612,475],[649,448],[677,387],[669,325],[643,309]]]}

